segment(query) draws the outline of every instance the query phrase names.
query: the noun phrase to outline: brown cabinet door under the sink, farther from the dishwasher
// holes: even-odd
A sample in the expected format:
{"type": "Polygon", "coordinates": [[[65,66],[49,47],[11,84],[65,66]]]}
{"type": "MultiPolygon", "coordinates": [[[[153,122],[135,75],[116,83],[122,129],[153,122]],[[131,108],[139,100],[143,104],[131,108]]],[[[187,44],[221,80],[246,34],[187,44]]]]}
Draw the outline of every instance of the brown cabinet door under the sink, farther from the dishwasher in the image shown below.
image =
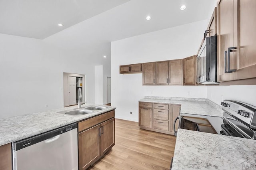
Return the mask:
{"type": "Polygon", "coordinates": [[[101,156],[115,145],[115,118],[101,124],[101,156]]]}

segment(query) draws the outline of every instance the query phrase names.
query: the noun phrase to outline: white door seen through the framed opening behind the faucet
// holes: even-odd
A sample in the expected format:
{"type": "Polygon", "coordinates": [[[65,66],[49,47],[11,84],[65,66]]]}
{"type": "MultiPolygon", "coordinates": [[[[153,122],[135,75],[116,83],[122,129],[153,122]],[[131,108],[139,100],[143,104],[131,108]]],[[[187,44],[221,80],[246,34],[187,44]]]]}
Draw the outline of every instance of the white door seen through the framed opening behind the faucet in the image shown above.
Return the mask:
{"type": "Polygon", "coordinates": [[[69,105],[76,105],[76,77],[68,76],[69,105]]]}

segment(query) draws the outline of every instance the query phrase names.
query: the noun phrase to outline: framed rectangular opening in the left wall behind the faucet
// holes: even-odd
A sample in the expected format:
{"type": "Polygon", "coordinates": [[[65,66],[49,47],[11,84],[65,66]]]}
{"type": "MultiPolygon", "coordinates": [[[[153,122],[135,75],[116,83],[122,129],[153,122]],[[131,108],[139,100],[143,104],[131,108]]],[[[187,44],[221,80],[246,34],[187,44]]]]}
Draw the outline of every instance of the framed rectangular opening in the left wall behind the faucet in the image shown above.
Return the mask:
{"type": "Polygon", "coordinates": [[[63,73],[64,107],[86,102],[85,79],[84,74],[63,73]]]}

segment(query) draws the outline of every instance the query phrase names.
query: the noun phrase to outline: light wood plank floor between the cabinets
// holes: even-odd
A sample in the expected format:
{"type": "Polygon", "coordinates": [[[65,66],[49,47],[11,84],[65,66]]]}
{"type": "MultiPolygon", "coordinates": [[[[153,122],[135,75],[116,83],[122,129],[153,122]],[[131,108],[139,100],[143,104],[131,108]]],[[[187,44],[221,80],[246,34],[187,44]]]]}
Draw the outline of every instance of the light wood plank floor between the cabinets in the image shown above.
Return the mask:
{"type": "Polygon", "coordinates": [[[169,170],[176,137],[116,119],[116,145],[89,170],[169,170]]]}

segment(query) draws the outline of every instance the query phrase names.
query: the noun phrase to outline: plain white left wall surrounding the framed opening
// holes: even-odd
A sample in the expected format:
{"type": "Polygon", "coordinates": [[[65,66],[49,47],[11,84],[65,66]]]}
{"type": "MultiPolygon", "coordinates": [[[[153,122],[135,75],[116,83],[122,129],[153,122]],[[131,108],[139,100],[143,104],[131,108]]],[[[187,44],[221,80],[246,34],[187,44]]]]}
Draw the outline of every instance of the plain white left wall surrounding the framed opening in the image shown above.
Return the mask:
{"type": "Polygon", "coordinates": [[[95,103],[90,55],[6,34],[0,34],[0,47],[0,118],[62,108],[63,72],[86,75],[86,99],[95,103]]]}

